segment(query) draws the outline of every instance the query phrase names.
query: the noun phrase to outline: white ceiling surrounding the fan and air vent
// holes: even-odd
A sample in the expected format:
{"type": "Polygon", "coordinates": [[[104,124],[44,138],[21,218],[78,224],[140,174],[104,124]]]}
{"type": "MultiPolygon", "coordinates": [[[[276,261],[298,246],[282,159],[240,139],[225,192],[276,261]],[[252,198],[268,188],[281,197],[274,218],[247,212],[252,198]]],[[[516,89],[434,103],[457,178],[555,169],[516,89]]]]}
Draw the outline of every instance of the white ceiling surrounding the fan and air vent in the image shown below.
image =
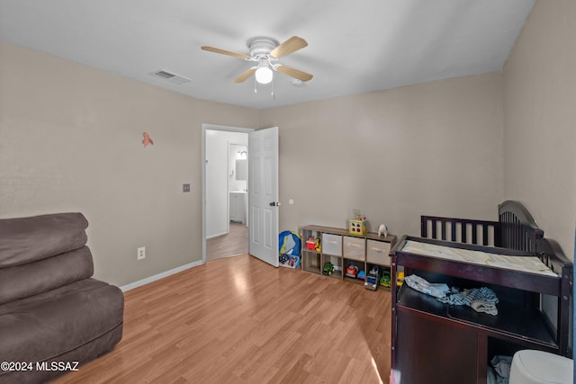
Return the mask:
{"type": "Polygon", "coordinates": [[[0,0],[0,39],[220,103],[268,108],[500,70],[536,0],[0,0]],[[274,93],[247,53],[251,37],[309,46],[280,63],[314,78],[274,93]],[[163,69],[192,82],[174,85],[163,69]]]}

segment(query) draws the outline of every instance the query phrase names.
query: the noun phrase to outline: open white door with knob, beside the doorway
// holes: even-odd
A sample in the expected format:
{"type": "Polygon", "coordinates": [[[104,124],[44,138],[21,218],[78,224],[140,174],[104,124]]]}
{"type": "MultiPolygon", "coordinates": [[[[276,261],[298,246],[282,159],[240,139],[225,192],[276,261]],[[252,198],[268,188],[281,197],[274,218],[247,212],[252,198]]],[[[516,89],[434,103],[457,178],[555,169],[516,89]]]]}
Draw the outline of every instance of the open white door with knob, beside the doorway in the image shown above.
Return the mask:
{"type": "Polygon", "coordinates": [[[248,133],[248,253],[278,266],[278,127],[248,133]]]}

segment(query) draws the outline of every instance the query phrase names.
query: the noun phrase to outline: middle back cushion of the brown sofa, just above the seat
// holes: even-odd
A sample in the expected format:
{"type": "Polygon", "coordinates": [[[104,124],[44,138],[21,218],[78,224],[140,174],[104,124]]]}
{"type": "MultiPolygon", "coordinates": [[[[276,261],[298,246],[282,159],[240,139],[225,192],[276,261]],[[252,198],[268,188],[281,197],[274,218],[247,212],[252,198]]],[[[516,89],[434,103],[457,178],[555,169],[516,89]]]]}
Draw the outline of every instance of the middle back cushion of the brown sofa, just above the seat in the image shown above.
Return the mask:
{"type": "Polygon", "coordinates": [[[0,304],[24,299],[89,278],[94,273],[87,246],[37,262],[0,269],[0,304]]]}

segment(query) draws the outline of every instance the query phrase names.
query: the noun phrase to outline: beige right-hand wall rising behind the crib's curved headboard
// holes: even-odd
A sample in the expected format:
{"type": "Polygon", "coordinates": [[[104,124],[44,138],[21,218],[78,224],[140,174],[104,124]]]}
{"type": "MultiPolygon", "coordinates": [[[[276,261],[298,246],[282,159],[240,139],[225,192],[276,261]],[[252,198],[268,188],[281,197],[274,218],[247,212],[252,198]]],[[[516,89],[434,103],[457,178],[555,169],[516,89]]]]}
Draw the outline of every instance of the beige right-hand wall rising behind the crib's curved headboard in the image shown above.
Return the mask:
{"type": "Polygon", "coordinates": [[[569,259],[576,219],[576,2],[539,0],[504,68],[504,196],[569,259]]]}

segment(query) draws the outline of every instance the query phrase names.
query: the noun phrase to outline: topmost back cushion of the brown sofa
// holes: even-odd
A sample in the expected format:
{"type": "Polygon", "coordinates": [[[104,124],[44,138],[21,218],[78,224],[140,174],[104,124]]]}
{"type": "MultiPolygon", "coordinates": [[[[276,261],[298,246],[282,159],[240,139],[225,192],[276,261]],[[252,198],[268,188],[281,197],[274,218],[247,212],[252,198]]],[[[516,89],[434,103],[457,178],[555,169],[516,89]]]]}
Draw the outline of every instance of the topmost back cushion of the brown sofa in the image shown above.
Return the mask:
{"type": "Polygon", "coordinates": [[[86,244],[82,213],[0,219],[0,268],[31,263],[86,244]]]}

